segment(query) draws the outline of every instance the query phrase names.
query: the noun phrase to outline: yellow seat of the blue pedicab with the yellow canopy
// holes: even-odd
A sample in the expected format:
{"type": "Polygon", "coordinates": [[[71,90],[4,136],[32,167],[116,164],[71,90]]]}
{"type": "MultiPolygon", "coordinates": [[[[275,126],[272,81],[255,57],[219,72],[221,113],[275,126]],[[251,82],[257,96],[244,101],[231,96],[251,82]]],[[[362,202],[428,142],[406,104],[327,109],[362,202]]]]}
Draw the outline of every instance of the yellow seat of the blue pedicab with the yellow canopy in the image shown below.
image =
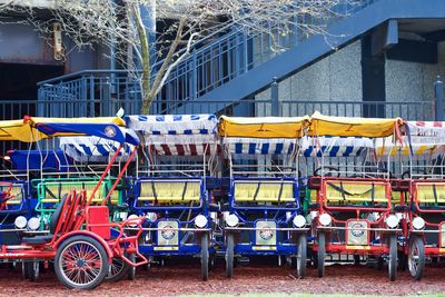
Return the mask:
{"type": "Polygon", "coordinates": [[[234,199],[239,202],[293,202],[294,184],[265,180],[235,181],[234,199]]]}

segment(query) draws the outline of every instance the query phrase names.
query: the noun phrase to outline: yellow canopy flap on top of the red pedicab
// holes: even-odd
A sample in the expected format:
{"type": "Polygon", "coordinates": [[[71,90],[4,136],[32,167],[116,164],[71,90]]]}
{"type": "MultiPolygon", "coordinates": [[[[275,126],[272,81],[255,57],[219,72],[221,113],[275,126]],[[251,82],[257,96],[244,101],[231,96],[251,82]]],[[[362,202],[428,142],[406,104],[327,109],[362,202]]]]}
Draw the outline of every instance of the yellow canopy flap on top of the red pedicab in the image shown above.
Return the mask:
{"type": "Polygon", "coordinates": [[[403,125],[400,118],[348,118],[328,117],[315,111],[310,118],[309,136],[355,136],[355,137],[388,137],[395,128],[403,125]]]}

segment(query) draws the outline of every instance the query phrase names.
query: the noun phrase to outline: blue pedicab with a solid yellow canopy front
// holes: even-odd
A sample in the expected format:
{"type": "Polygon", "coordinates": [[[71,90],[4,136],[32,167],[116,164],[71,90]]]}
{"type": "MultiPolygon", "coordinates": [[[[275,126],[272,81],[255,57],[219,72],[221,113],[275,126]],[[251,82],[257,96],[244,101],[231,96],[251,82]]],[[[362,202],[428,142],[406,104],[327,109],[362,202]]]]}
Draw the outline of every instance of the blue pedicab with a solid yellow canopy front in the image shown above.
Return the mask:
{"type": "Polygon", "coordinates": [[[230,169],[224,212],[226,276],[240,257],[291,257],[306,274],[306,234],[299,201],[299,138],[308,117],[220,117],[218,132],[230,169]]]}

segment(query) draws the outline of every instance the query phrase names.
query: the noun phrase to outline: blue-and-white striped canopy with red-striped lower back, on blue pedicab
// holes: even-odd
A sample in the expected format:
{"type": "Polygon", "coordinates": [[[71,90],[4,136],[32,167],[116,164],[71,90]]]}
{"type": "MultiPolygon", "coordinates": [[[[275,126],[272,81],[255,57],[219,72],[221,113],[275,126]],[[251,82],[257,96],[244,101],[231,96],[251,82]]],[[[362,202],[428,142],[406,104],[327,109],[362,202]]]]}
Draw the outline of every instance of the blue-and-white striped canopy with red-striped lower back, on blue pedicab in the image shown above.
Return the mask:
{"type": "Polygon", "coordinates": [[[126,125],[158,155],[200,156],[217,148],[215,115],[127,116],[126,125]]]}

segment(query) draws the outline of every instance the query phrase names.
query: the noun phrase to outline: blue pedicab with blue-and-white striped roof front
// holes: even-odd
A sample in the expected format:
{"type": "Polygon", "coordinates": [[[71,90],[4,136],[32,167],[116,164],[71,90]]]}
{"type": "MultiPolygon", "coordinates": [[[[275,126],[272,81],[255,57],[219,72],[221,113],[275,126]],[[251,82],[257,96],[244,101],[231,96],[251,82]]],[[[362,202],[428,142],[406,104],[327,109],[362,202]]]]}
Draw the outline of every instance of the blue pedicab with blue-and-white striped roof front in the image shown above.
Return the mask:
{"type": "Polygon", "coordinates": [[[132,214],[147,217],[140,253],[161,261],[198,257],[207,280],[214,254],[207,180],[215,174],[216,117],[129,116],[126,121],[144,139],[131,204],[132,214]]]}

